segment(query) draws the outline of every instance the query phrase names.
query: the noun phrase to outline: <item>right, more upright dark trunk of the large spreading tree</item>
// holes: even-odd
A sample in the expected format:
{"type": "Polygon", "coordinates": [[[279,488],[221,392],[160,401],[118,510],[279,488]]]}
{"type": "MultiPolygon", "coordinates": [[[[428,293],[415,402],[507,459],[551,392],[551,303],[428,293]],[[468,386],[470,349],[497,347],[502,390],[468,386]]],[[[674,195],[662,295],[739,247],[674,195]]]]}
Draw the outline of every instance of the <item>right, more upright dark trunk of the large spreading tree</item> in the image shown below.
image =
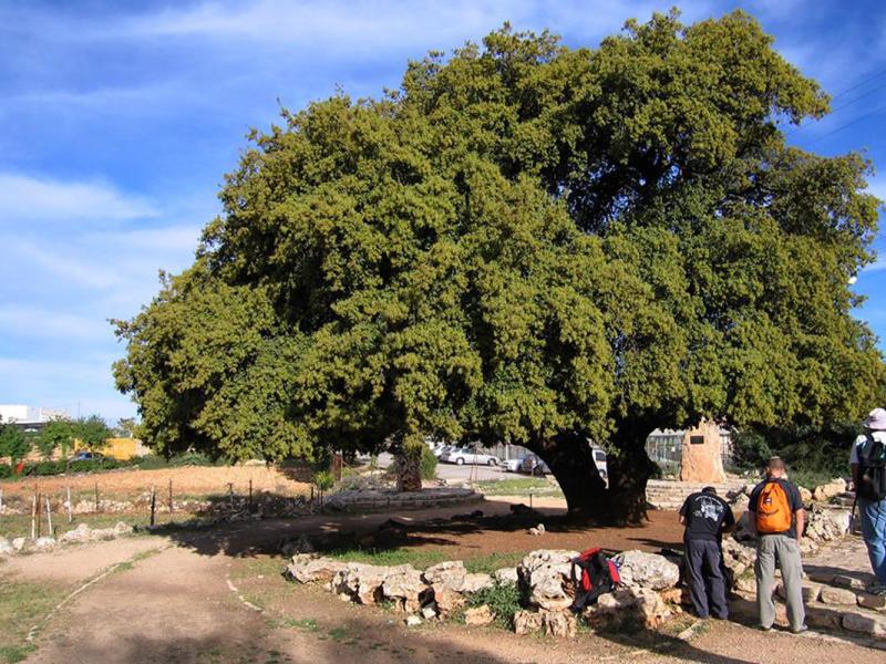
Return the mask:
{"type": "Polygon", "coordinates": [[[620,428],[612,438],[618,455],[609,455],[609,499],[612,519],[618,523],[639,523],[647,519],[646,485],[655,465],[646,454],[649,430],[635,424],[620,428]]]}

